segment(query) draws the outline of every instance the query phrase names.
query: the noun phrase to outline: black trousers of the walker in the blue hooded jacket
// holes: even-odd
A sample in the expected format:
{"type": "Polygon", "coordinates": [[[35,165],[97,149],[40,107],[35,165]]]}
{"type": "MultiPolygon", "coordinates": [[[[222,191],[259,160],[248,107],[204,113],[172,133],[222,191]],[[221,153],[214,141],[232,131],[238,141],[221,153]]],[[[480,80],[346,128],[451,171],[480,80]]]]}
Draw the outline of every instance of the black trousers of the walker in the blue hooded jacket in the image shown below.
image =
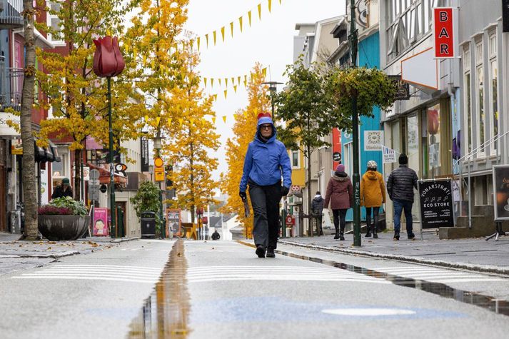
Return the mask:
{"type": "Polygon", "coordinates": [[[253,206],[253,238],[255,245],[276,248],[279,229],[279,201],[281,181],[269,186],[259,186],[249,181],[249,196],[253,206]]]}

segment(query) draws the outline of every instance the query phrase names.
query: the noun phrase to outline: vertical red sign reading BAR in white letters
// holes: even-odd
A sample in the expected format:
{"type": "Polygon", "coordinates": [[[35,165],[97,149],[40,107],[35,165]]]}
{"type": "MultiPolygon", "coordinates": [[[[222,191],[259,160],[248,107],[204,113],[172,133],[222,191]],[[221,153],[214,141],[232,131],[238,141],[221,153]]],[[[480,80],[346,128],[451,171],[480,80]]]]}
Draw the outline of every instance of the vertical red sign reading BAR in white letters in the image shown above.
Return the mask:
{"type": "Polygon", "coordinates": [[[435,58],[454,58],[454,21],[452,7],[433,9],[435,58]]]}

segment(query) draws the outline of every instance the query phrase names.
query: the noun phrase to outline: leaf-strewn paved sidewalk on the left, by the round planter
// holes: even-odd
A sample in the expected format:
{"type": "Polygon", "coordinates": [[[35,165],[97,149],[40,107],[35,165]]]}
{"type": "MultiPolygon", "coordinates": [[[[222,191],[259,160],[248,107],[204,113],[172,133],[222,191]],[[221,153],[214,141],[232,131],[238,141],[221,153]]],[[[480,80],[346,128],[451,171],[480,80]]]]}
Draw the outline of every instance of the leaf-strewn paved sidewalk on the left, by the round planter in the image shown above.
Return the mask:
{"type": "Polygon", "coordinates": [[[0,275],[51,263],[68,255],[92,253],[136,238],[91,237],[76,241],[19,241],[19,234],[0,233],[0,275]]]}

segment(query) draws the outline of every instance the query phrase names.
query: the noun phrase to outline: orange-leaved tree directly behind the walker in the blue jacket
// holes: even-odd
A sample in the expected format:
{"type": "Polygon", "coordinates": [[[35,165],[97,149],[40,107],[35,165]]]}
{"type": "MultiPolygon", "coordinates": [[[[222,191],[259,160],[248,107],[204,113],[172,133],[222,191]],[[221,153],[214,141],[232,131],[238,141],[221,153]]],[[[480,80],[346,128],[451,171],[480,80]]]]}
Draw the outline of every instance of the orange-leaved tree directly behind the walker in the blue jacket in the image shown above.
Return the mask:
{"type": "MultiPolygon", "coordinates": [[[[253,218],[244,217],[244,207],[238,196],[238,187],[241,183],[244,158],[248,144],[253,141],[258,123],[258,114],[270,112],[271,103],[267,96],[268,86],[263,85],[263,72],[260,64],[256,64],[251,72],[251,81],[248,83],[248,106],[235,114],[232,138],[226,142],[226,161],[228,171],[221,174],[221,191],[228,194],[228,201],[223,206],[225,213],[237,213],[238,221],[246,229],[246,235],[251,238],[253,218]]],[[[247,191],[246,193],[249,194],[247,191]]]]}

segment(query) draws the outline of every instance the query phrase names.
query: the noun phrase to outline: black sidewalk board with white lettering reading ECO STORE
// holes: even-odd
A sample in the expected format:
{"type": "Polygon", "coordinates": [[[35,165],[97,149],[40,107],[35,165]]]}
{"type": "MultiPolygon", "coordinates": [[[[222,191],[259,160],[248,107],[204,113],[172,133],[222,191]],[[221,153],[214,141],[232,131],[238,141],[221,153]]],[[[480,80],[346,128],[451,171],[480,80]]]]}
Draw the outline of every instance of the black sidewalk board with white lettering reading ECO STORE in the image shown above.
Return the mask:
{"type": "Polygon", "coordinates": [[[424,228],[454,227],[450,179],[418,181],[420,220],[424,228]]]}

